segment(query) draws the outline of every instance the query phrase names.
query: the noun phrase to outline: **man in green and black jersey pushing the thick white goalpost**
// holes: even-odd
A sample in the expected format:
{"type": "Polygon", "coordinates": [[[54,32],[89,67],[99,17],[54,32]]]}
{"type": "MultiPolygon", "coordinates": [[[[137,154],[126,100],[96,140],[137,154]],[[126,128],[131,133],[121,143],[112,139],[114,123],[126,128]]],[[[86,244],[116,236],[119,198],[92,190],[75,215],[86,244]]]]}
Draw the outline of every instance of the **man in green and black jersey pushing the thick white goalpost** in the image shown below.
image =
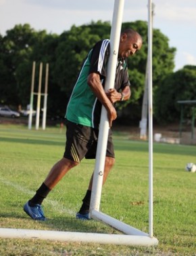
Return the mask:
{"type": "MultiPolygon", "coordinates": [[[[117,117],[114,103],[130,98],[126,58],[140,50],[141,45],[141,35],[136,31],[126,29],[121,33],[114,89],[110,89],[108,92],[105,92],[104,85],[109,59],[109,40],[99,41],[89,52],[78,75],[66,111],[67,140],[64,157],[51,168],[49,175],[36,191],[36,194],[24,205],[24,211],[32,219],[45,221],[41,204],[49,191],[71,168],[77,166],[82,158],[95,158],[101,105],[107,110],[109,127],[111,128],[112,122],[117,117]]],[[[103,184],[114,162],[112,131],[109,129],[103,184]]],[[[89,182],[87,194],[82,200],[80,211],[76,214],[78,219],[89,219],[92,183],[93,175],[89,182]]]]}

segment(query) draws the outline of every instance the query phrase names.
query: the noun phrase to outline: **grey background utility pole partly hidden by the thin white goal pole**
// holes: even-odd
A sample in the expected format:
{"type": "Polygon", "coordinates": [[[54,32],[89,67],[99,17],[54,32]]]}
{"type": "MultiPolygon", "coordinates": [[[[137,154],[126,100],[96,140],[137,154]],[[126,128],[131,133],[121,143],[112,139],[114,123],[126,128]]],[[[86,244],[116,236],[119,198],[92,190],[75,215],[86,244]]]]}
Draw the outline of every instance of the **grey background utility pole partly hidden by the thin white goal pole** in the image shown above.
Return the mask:
{"type": "MultiPolygon", "coordinates": [[[[152,17],[152,26],[153,26],[153,16],[154,16],[154,7],[155,4],[152,3],[151,8],[151,17],[152,17]]],[[[147,139],[147,113],[148,113],[148,58],[147,56],[147,64],[146,64],[146,73],[145,73],[145,89],[143,94],[143,104],[142,104],[142,113],[141,113],[141,121],[139,123],[140,128],[140,139],[147,139]]]]}

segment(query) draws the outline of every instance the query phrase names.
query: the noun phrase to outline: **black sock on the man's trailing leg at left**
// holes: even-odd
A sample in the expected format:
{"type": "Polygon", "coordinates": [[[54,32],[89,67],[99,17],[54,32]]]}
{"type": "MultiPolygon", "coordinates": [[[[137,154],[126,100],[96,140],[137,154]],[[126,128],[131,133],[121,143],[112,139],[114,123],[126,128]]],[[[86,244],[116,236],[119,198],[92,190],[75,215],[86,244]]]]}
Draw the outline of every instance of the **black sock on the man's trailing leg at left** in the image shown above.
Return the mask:
{"type": "Polygon", "coordinates": [[[49,194],[49,191],[51,191],[51,189],[49,189],[45,183],[42,183],[39,189],[36,190],[36,194],[29,200],[29,205],[34,206],[35,204],[42,204],[47,194],[49,194]]]}

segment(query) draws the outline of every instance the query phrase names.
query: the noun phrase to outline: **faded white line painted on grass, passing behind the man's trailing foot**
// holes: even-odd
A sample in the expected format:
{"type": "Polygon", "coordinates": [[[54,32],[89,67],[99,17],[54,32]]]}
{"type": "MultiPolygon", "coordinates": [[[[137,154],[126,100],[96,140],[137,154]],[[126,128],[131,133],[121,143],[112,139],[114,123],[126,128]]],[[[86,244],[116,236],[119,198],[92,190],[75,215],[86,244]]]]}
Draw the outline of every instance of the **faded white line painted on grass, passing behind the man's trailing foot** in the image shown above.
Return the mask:
{"type": "MultiPolygon", "coordinates": [[[[13,187],[14,189],[16,189],[18,191],[21,191],[23,194],[28,194],[29,196],[32,196],[34,194],[34,191],[27,189],[26,187],[22,187],[18,183],[14,183],[12,181],[8,181],[8,180],[2,179],[2,178],[0,179],[0,182],[9,187],[13,187]]],[[[56,200],[46,200],[45,203],[53,206],[55,208],[55,211],[57,211],[59,213],[66,213],[68,215],[76,214],[75,211],[72,211],[71,209],[68,209],[68,208],[64,208],[64,206],[62,206],[62,204],[60,204],[56,200]]]]}

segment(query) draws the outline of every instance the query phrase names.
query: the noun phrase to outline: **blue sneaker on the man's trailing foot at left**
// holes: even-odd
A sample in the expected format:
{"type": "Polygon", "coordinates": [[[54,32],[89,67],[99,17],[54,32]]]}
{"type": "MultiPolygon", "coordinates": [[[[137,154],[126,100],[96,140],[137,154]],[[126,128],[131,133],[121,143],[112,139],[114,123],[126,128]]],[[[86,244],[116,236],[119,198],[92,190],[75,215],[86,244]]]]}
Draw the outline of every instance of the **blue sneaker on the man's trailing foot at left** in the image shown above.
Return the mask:
{"type": "Polygon", "coordinates": [[[32,219],[36,221],[46,221],[46,217],[44,216],[42,206],[40,204],[35,204],[35,206],[30,206],[28,202],[24,204],[23,209],[25,213],[28,214],[28,216],[30,216],[32,219]]]}

